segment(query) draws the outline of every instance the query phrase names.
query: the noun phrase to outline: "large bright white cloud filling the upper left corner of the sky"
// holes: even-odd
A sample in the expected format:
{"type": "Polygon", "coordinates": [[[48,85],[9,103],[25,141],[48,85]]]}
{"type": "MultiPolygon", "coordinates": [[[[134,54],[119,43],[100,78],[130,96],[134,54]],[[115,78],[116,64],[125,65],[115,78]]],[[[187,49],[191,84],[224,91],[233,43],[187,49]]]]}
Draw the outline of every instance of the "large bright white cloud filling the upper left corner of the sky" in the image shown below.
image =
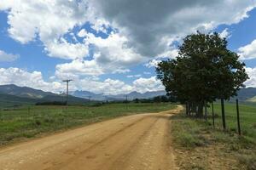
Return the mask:
{"type": "Polygon", "coordinates": [[[75,26],[94,20],[84,1],[1,0],[0,10],[8,13],[9,36],[21,43],[36,37],[44,43],[49,56],[63,59],[82,58],[88,53],[83,43],[63,42],[64,35],[75,26]]]}

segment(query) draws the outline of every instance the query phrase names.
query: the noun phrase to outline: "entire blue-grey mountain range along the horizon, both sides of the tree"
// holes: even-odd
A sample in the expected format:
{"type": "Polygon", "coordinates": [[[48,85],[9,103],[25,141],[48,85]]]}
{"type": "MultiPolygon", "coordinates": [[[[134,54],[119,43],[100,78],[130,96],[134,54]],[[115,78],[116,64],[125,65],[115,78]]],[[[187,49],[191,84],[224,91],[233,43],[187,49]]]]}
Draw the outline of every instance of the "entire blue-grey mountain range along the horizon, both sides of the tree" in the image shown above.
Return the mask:
{"type": "MultiPolygon", "coordinates": [[[[131,92],[130,94],[95,94],[89,91],[73,91],[68,97],[69,104],[84,104],[89,100],[95,101],[113,101],[113,100],[128,100],[132,99],[151,99],[155,96],[166,95],[166,91],[155,91],[138,93],[131,92]]],[[[256,103],[256,88],[241,88],[238,95],[231,99],[239,99],[242,102],[256,103]]],[[[54,94],[51,92],[44,92],[28,87],[19,87],[14,84],[0,85],[0,105],[23,105],[35,104],[38,102],[49,101],[65,101],[65,94],[54,94]]]]}

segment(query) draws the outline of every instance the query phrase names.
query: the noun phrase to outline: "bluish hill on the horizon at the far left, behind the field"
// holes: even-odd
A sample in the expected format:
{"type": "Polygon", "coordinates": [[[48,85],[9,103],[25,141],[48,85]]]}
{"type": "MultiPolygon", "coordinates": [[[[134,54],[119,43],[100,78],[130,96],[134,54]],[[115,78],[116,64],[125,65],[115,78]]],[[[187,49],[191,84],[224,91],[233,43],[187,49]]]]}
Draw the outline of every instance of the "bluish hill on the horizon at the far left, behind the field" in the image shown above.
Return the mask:
{"type": "Polygon", "coordinates": [[[0,85],[1,94],[10,94],[19,97],[32,98],[32,99],[42,99],[48,95],[57,95],[50,92],[44,92],[43,90],[38,90],[34,88],[19,87],[15,84],[0,85]]]}

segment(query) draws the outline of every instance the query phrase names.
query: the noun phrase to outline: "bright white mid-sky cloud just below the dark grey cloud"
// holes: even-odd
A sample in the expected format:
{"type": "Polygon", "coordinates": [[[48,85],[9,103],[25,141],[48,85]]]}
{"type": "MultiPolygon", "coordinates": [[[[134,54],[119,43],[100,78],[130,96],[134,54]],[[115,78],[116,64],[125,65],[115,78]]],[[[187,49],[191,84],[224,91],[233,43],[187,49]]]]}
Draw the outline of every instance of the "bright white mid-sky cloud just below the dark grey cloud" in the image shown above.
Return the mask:
{"type": "Polygon", "coordinates": [[[56,65],[56,75],[99,76],[105,73],[126,73],[130,71],[127,67],[145,60],[133,48],[126,47],[126,37],[111,34],[103,39],[85,31],[80,36],[85,34],[86,41],[95,46],[93,59],[75,59],[70,63],[56,65]]]}

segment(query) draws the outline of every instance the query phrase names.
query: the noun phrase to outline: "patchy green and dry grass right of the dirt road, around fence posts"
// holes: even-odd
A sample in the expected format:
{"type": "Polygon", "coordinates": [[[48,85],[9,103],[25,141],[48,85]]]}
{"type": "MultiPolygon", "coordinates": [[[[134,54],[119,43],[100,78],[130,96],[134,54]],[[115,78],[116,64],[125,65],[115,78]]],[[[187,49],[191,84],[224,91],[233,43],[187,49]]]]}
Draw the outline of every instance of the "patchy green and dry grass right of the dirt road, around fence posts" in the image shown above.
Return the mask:
{"type": "MultiPolygon", "coordinates": [[[[219,115],[219,105],[214,105],[219,115]]],[[[181,169],[256,169],[256,107],[241,106],[243,135],[236,134],[235,105],[226,105],[228,130],[221,129],[217,116],[216,128],[208,122],[184,116],[172,116],[172,137],[181,169]]]]}

